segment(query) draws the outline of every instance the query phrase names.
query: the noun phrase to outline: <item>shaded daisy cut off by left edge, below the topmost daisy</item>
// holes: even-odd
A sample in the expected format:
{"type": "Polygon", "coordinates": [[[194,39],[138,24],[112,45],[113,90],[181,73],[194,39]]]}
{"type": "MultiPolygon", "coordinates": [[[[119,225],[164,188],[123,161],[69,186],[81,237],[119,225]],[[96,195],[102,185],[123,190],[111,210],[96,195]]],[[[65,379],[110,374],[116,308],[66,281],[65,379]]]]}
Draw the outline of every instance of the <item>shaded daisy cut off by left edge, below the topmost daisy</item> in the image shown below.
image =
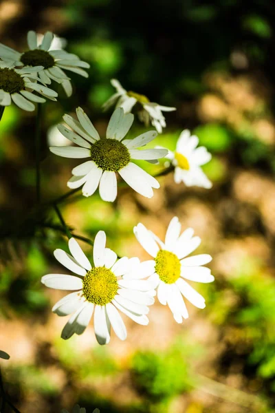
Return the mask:
{"type": "Polygon", "coordinates": [[[42,66],[15,69],[12,63],[0,61],[0,105],[10,106],[13,101],[21,109],[32,112],[35,109],[34,103],[45,102],[44,98],[32,92],[56,100],[57,93],[54,90],[32,82],[40,81],[36,73],[42,69],[42,66]]]}

